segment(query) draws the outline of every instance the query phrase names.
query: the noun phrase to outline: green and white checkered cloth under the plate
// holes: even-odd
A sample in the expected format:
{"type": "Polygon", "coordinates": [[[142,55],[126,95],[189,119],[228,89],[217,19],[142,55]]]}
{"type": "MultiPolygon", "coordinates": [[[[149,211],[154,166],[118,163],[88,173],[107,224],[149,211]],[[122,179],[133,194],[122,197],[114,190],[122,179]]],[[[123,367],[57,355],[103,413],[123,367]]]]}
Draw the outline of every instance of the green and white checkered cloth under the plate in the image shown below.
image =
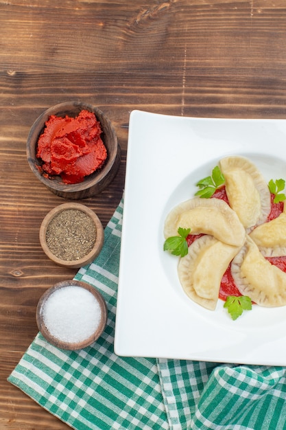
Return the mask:
{"type": "Polygon", "coordinates": [[[122,214],[123,201],[102,252],[75,276],[106,299],[102,337],[66,351],[38,334],[8,381],[78,430],[286,430],[284,367],[115,355],[122,214]]]}

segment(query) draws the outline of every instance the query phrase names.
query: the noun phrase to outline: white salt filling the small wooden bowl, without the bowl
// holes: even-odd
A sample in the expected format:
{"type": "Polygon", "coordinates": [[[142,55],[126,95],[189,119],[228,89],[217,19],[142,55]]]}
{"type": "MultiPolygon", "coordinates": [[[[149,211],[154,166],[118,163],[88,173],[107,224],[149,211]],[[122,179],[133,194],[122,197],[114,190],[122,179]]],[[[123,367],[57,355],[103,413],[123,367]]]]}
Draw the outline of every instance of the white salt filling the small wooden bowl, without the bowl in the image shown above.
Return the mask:
{"type": "Polygon", "coordinates": [[[102,316],[94,295],[75,285],[54,291],[45,302],[42,313],[51,335],[67,343],[88,339],[97,330],[102,316]]]}

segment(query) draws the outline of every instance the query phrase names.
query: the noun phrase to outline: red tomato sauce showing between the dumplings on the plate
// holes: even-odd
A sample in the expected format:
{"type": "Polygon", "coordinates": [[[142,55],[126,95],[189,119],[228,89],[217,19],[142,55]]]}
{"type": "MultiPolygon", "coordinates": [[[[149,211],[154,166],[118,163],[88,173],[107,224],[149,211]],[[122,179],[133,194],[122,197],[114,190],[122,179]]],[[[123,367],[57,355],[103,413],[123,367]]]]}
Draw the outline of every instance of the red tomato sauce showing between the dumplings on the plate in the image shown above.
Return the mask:
{"type": "MultiPolygon", "coordinates": [[[[212,197],[215,197],[216,199],[222,199],[226,203],[228,203],[228,197],[226,196],[226,189],[224,186],[216,190],[212,197]]],[[[270,210],[270,214],[268,215],[267,221],[277,218],[283,212],[283,206],[284,206],[283,202],[274,203],[273,200],[274,200],[274,195],[271,194],[272,205],[271,205],[271,210],[270,210]]],[[[191,243],[193,243],[193,241],[195,239],[198,239],[200,236],[203,236],[203,235],[189,234],[189,236],[187,236],[188,246],[191,245],[191,243]]],[[[276,267],[286,272],[286,257],[272,257],[272,258],[267,258],[267,260],[269,260],[271,264],[274,264],[276,267]]],[[[226,272],[224,273],[222,277],[222,282],[220,284],[219,298],[224,301],[226,300],[228,295],[235,295],[235,296],[241,295],[241,293],[239,293],[237,286],[235,285],[233,276],[231,275],[230,266],[231,264],[229,264],[228,269],[226,269],[226,272]]]]}

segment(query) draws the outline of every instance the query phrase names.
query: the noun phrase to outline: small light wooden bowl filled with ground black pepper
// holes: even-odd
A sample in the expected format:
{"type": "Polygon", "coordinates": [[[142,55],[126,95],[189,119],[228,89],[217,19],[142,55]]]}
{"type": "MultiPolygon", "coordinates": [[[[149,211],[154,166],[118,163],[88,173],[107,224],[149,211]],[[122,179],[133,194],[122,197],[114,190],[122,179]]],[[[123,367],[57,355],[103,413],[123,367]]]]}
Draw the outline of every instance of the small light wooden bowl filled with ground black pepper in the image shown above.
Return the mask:
{"type": "Polygon", "coordinates": [[[82,267],[93,261],[104,242],[99,218],[80,203],[64,203],[51,210],[40,226],[46,255],[64,267],[82,267]]]}

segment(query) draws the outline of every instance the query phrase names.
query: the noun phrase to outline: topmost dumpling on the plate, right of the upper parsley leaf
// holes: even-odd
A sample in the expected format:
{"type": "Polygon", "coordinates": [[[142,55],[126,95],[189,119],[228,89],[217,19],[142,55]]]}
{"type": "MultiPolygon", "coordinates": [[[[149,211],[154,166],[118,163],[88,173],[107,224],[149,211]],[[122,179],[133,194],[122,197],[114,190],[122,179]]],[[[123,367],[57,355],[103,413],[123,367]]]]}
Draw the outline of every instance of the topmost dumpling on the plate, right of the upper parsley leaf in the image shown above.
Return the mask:
{"type": "Polygon", "coordinates": [[[226,194],[247,232],[265,223],[271,209],[270,190],[257,167],[245,157],[219,161],[226,180],[226,194]]]}

